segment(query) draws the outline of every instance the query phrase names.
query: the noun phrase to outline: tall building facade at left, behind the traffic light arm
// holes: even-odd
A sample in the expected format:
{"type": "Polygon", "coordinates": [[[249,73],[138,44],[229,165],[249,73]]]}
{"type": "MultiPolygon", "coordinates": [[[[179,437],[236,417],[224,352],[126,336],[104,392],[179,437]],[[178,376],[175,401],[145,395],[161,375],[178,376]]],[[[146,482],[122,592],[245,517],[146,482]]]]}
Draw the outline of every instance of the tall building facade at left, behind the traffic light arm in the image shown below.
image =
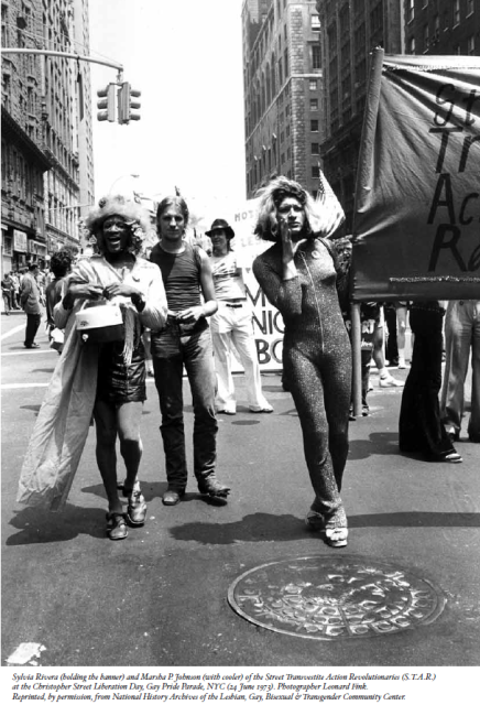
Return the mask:
{"type": "MultiPolygon", "coordinates": [[[[3,47],[88,54],[88,0],[9,0],[1,12],[3,47]]],[[[78,243],[81,184],[86,203],[94,192],[83,64],[2,54],[2,273],[78,243]]]]}

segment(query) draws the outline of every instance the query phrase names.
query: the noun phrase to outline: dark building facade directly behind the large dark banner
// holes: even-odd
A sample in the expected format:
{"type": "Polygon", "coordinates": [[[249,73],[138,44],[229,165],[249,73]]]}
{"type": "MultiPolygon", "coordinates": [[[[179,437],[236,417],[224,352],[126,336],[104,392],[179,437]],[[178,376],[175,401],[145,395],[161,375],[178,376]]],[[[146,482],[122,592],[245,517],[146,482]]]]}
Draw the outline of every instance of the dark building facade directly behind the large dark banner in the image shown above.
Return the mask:
{"type": "Polygon", "coordinates": [[[323,166],[351,231],[370,53],[480,54],[478,0],[317,0],[321,24],[323,166]]]}

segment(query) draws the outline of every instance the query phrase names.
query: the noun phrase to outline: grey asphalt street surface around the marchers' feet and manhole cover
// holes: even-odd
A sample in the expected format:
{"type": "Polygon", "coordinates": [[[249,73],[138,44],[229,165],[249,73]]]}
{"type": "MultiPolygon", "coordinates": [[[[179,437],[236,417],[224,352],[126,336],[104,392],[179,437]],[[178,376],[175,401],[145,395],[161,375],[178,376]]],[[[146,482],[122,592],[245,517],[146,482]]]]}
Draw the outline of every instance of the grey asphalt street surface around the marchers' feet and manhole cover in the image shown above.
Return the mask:
{"type": "MultiPolygon", "coordinates": [[[[142,489],[149,511],[126,541],[105,533],[106,499],[91,429],[65,510],[15,503],[22,458],[57,361],[42,326],[25,350],[25,317],[2,321],[2,665],[25,642],[40,666],[441,666],[480,662],[480,446],[459,465],[401,456],[402,388],[379,389],[371,415],[350,424],[342,497],[349,544],[329,549],[304,516],[312,489],[298,419],[279,375],[263,377],[273,414],[219,416],[218,476],[228,503],[197,494],[178,506],[166,488],[153,381],[143,411],[142,489]],[[443,610],[430,621],[374,638],[320,640],[263,628],[228,601],[232,583],[262,564],[303,556],[384,563],[432,584],[443,610]]],[[[407,370],[393,370],[405,379],[407,370]]],[[[193,413],[185,384],[188,457],[193,413]]],[[[123,468],[120,465],[119,476],[123,468]]],[[[372,634],[370,634],[372,636],[372,634]]]]}

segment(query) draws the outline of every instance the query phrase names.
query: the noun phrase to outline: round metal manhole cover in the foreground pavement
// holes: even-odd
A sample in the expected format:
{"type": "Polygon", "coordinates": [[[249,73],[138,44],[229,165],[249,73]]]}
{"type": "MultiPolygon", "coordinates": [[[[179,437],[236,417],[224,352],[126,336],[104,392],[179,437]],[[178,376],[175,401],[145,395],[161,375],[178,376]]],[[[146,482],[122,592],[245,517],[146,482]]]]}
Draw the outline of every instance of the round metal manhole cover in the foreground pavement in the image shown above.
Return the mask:
{"type": "Polygon", "coordinates": [[[358,556],[260,565],[232,583],[228,600],[254,625],[305,639],[397,633],[432,622],[445,605],[428,581],[358,556]]]}

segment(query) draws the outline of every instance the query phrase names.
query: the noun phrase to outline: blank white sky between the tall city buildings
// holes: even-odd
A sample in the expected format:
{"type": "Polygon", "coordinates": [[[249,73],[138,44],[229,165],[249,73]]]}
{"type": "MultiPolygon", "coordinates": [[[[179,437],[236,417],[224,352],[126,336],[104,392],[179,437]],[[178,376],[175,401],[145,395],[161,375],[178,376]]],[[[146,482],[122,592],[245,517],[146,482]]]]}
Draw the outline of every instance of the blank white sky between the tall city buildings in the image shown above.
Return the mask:
{"type": "Polygon", "coordinates": [[[243,202],[242,0],[89,7],[90,55],[122,64],[123,80],[142,93],[139,121],[99,122],[97,90],[117,72],[90,64],[96,198],[178,186],[187,199],[243,202]]]}

